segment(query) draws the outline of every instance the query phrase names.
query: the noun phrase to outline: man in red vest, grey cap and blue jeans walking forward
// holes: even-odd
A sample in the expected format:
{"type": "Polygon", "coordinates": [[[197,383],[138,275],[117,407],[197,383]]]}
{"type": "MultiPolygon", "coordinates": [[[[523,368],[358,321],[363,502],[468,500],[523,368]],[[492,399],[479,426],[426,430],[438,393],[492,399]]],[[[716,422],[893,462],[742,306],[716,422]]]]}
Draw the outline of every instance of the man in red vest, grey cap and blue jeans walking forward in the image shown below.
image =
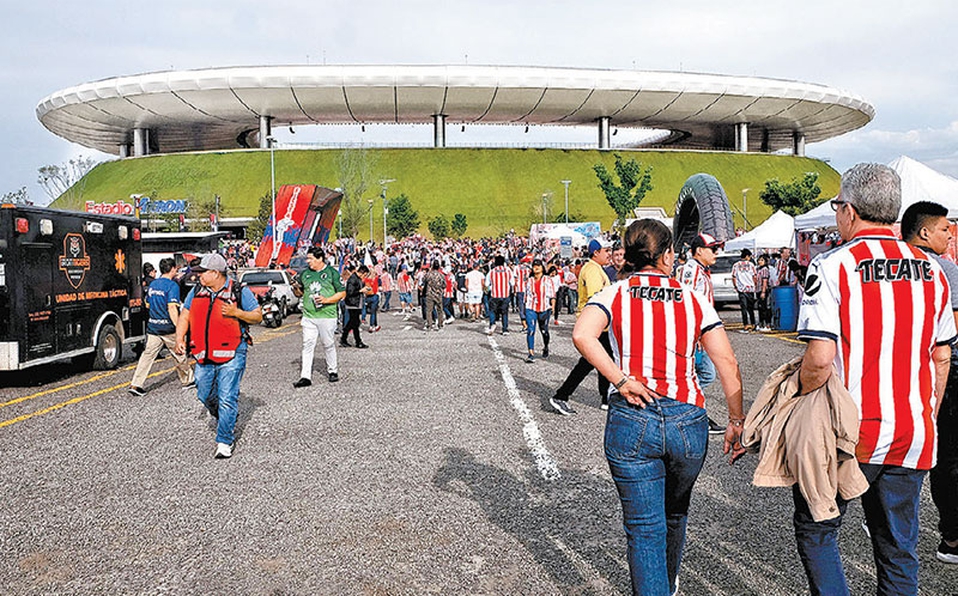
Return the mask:
{"type": "Polygon", "coordinates": [[[174,347],[174,353],[184,355],[186,334],[192,330],[197,397],[217,420],[216,459],[233,455],[239,387],[251,343],[248,326],[263,320],[253,292],[240,288],[226,270],[226,259],[217,253],[206,255],[193,268],[198,283],[183,301],[174,347]]]}

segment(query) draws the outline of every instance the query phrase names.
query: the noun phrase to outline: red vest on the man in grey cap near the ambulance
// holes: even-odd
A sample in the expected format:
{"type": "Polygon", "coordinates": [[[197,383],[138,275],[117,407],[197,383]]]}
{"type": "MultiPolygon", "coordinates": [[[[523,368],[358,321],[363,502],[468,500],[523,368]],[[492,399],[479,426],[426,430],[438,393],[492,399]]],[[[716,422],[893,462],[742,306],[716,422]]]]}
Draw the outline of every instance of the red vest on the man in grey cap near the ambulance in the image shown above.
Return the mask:
{"type": "MultiPolygon", "coordinates": [[[[209,288],[200,287],[190,304],[190,352],[200,364],[223,364],[236,356],[243,341],[243,328],[238,319],[223,316],[222,304],[239,304],[239,292],[223,288],[214,296],[209,288]]],[[[238,289],[238,288],[236,288],[238,289]]]]}

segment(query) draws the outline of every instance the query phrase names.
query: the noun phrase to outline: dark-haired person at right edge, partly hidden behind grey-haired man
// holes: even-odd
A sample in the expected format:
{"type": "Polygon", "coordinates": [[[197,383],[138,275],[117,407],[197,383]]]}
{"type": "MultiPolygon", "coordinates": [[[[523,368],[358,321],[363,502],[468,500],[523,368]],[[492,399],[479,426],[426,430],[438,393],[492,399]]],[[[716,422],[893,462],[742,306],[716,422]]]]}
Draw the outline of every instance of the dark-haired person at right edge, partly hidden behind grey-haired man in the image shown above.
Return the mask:
{"type": "MultiPolygon", "coordinates": [[[[938,203],[912,203],[901,216],[902,240],[916,246],[938,263],[951,290],[951,309],[958,323],[958,265],[942,257],[952,240],[948,209],[938,203]]],[[[958,349],[951,346],[951,366],[945,392],[939,396],[938,462],[931,469],[931,498],[938,509],[941,541],[935,558],[958,564],[958,349]]]]}

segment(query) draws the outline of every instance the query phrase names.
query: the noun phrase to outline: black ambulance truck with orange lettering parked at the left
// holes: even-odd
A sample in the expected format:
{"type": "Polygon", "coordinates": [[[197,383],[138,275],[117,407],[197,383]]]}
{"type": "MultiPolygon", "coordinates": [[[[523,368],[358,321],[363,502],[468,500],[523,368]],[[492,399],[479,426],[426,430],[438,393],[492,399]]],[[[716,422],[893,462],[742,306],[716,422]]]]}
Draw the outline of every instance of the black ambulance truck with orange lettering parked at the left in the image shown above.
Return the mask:
{"type": "Polygon", "coordinates": [[[115,368],[146,340],[140,220],[0,205],[0,370],[115,368]]]}

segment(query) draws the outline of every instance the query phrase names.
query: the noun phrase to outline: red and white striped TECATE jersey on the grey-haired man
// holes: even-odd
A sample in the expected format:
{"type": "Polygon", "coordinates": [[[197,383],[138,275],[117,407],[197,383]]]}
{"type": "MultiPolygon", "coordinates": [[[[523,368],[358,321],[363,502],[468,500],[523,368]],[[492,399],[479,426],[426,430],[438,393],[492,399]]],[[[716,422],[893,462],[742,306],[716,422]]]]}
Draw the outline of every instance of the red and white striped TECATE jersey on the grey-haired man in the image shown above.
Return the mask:
{"type": "Polygon", "coordinates": [[[927,470],[936,461],[936,345],[955,337],[940,266],[887,229],[865,230],[808,269],[798,337],[836,342],[861,420],[858,460],[927,470]]]}

